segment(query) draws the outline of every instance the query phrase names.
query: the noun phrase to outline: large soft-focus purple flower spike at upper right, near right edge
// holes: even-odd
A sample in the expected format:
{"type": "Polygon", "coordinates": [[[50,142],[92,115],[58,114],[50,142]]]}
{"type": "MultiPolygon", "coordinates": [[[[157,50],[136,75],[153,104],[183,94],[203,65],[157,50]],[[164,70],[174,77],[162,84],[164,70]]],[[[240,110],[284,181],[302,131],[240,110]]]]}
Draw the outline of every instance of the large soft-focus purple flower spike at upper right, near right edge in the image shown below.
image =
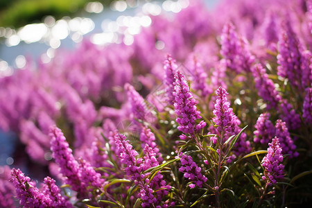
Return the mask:
{"type": "Polygon", "coordinates": [[[302,63],[305,63],[305,57],[302,54],[302,45],[298,40],[291,22],[286,21],[283,25],[283,31],[278,42],[279,55],[277,55],[277,74],[283,78],[288,78],[293,87],[302,88],[302,63]]]}

